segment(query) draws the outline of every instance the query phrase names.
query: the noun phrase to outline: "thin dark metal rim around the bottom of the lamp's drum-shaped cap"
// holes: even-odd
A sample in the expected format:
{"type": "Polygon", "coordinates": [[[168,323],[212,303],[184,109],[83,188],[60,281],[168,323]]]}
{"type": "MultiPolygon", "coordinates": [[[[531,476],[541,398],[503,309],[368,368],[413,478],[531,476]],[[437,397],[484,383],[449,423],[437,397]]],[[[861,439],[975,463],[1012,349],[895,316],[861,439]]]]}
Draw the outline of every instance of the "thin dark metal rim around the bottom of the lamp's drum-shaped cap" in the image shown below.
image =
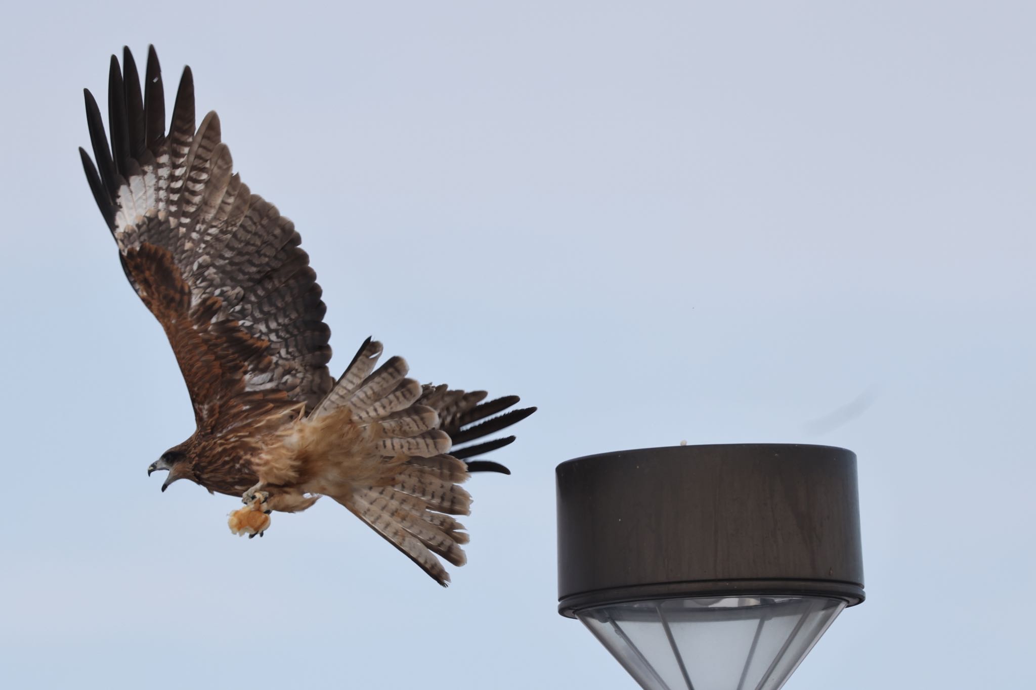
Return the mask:
{"type": "Polygon", "coordinates": [[[802,579],[738,579],[697,580],[690,582],[664,582],[621,587],[609,590],[583,592],[560,599],[557,612],[570,619],[576,611],[607,604],[654,599],[692,599],[696,597],[729,596],[800,596],[841,599],[846,606],[856,606],[865,598],[863,587],[856,582],[802,579]]]}

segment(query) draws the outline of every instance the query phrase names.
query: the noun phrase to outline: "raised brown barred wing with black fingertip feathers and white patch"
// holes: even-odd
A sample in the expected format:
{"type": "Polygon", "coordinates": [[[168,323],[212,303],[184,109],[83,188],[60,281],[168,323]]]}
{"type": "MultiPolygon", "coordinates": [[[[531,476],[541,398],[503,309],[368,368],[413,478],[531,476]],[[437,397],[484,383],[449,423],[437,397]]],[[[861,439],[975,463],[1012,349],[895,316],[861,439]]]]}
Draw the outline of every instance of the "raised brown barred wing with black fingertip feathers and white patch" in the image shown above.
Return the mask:
{"type": "Polygon", "coordinates": [[[143,93],[128,49],[122,62],[112,56],[111,146],[84,91],[96,166],[80,154],[126,277],[169,335],[199,426],[230,424],[231,409],[258,414],[259,400],[313,408],[334,385],[330,330],[298,233],[231,174],[215,113],[195,128],[190,67],[167,133],[153,47],[143,93]]]}

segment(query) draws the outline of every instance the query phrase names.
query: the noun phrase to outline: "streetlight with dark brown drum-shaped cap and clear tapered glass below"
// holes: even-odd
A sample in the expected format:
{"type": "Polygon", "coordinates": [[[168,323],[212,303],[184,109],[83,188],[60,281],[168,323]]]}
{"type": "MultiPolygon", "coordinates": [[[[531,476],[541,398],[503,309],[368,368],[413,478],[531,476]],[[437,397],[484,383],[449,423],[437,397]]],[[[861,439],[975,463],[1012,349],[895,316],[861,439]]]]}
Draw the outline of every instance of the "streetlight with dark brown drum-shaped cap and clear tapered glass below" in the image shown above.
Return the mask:
{"type": "Polygon", "coordinates": [[[677,446],[557,467],[558,612],[648,690],[776,690],[863,601],[856,455],[677,446]]]}

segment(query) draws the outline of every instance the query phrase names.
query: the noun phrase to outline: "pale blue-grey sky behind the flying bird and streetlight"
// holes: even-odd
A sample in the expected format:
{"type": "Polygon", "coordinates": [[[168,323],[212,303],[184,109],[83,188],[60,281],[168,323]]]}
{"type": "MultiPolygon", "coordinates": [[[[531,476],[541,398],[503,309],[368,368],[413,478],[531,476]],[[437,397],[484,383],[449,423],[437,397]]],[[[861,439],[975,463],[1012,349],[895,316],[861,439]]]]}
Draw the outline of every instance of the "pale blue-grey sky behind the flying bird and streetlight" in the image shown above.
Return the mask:
{"type": "Polygon", "coordinates": [[[556,613],[553,468],[687,440],[859,455],[868,599],[786,688],[1029,687],[1034,32],[1027,2],[9,3],[0,682],[633,688],[556,613]],[[193,414],[76,147],[149,42],[295,221],[335,373],[374,334],[540,407],[449,590],[333,502],[249,541],[145,476],[193,414]]]}

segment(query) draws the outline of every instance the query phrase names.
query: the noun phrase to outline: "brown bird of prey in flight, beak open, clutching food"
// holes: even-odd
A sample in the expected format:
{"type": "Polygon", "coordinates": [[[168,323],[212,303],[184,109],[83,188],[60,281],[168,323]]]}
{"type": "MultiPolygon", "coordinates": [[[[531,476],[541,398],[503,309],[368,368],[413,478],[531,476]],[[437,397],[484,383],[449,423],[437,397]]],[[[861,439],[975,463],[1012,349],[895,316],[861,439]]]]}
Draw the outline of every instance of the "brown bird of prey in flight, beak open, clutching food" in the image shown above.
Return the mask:
{"type": "Polygon", "coordinates": [[[191,68],[168,131],[153,47],[143,90],[130,50],[121,66],[112,56],[107,136],[84,94],[90,189],[130,284],[166,331],[195,413],[194,433],[147,474],[168,471],[163,491],[188,479],[240,497],[229,524],[249,538],[263,535],[272,511],[330,497],[445,586],[436,556],[463,565],[468,540],[454,517],[469,513],[460,484],[471,472],[510,474],[472,458],[513,442],[487,437],[536,408],[512,409],[516,395],[484,401],[485,391],[421,385],[401,357],[377,366],[381,343],[371,338],[336,381],[298,233],[232,174],[217,114],[195,126],[191,68]]]}

